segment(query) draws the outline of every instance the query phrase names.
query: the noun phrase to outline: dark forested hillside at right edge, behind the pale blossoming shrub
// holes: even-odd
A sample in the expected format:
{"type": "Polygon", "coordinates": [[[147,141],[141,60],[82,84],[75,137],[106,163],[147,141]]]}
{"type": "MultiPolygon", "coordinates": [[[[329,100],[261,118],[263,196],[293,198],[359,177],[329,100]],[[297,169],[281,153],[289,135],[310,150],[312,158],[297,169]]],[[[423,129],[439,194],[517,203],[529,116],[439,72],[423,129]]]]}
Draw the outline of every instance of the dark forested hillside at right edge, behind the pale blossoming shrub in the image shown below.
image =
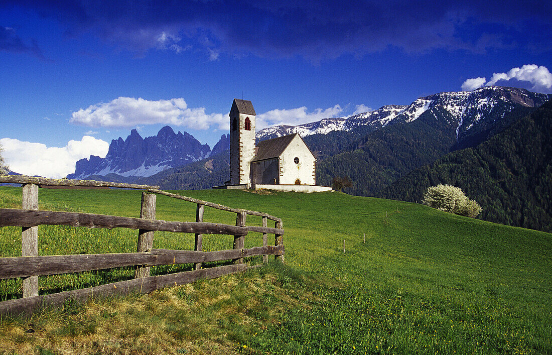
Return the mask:
{"type": "Polygon", "coordinates": [[[379,195],[420,202],[429,186],[452,184],[483,208],[482,219],[552,231],[552,104],[482,144],[449,153],[379,195]]]}

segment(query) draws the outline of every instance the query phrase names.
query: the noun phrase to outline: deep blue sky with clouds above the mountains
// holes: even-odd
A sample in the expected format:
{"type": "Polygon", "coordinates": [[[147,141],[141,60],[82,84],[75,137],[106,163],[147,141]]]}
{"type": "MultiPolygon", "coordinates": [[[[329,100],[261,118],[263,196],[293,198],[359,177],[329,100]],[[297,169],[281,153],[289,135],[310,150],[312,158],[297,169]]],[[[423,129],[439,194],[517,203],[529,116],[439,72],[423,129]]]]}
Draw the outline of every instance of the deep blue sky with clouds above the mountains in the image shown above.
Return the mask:
{"type": "Polygon", "coordinates": [[[14,171],[61,177],[133,128],[213,147],[235,97],[261,128],[299,124],[485,84],[550,93],[551,58],[550,1],[3,1],[0,143],[14,171]]]}

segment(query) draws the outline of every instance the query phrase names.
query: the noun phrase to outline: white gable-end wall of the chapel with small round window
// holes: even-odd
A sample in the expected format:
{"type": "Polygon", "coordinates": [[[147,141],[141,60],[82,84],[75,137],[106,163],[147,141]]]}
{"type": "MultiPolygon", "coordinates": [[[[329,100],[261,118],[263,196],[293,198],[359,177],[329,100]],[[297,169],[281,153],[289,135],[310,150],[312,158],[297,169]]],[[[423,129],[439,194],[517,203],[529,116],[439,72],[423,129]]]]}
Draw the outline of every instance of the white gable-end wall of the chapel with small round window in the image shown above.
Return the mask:
{"type": "Polygon", "coordinates": [[[301,184],[315,185],[315,158],[299,136],[296,136],[280,155],[280,184],[295,184],[299,179],[301,184]],[[295,163],[299,158],[299,163],[295,163]]]}

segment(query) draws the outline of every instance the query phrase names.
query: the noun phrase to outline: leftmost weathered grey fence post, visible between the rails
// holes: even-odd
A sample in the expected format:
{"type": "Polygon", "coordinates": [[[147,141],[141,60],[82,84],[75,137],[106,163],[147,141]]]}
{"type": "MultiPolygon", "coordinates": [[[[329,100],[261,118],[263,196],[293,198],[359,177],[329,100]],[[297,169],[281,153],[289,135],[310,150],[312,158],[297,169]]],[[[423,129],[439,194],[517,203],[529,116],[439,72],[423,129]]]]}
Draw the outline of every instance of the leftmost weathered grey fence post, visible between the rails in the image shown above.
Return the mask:
{"type": "MultiPolygon", "coordinates": [[[[38,185],[23,185],[22,208],[38,210],[38,185]]],[[[38,226],[23,227],[21,232],[21,255],[38,256],[38,226]]],[[[23,279],[23,297],[38,296],[38,276],[23,279]]]]}

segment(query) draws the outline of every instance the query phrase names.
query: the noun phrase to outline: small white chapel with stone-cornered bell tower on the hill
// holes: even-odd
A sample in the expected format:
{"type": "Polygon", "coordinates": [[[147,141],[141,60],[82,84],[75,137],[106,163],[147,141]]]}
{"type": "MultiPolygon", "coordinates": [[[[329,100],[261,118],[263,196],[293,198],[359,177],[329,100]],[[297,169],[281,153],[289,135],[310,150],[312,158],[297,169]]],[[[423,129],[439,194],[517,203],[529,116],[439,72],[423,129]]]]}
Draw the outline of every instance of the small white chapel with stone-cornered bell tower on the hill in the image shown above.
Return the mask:
{"type": "Polygon", "coordinates": [[[226,182],[225,188],[331,190],[316,186],[316,157],[299,134],[264,140],[256,145],[256,116],[251,101],[233,100],[230,109],[230,181],[226,182]]]}

